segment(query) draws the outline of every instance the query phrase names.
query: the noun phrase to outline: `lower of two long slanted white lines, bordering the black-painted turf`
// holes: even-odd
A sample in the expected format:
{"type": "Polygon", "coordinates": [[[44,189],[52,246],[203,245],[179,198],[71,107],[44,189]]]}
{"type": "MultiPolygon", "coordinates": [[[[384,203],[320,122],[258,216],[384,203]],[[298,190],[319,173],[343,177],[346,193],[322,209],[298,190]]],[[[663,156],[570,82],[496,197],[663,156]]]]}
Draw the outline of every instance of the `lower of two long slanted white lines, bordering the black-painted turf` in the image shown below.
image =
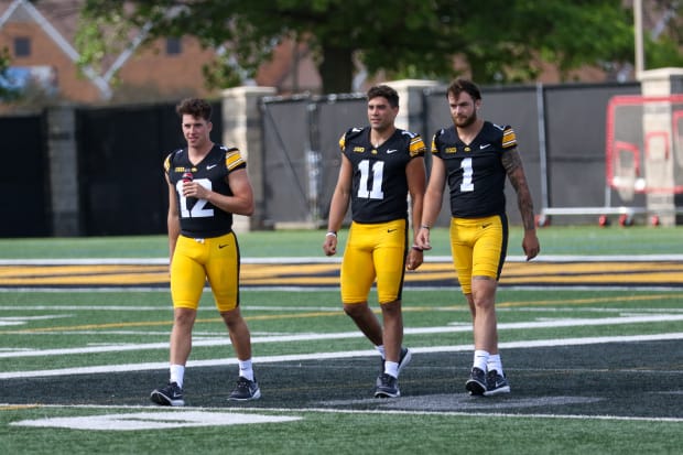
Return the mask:
{"type": "MultiPolygon", "coordinates": [[[[534,347],[553,347],[553,346],[581,346],[597,345],[606,343],[638,343],[638,342],[659,342],[683,339],[683,333],[672,334],[654,334],[654,335],[631,335],[631,336],[605,336],[605,337],[586,337],[586,338],[562,338],[562,339],[533,339],[527,342],[501,343],[500,348],[534,348],[534,347]]],[[[455,346],[433,346],[433,347],[411,347],[413,353],[456,353],[470,351],[471,344],[455,346]]],[[[342,359],[350,357],[375,357],[377,350],[348,350],[343,353],[314,353],[314,354],[291,354],[282,356],[263,356],[254,357],[256,364],[274,364],[282,361],[301,361],[301,360],[327,360],[342,359]]],[[[208,360],[191,360],[187,367],[217,367],[237,365],[235,358],[208,359],[208,360]]],[[[147,364],[124,364],[124,365],[102,365],[94,367],[62,368],[54,370],[35,370],[35,371],[11,371],[0,373],[0,379],[17,378],[39,378],[55,377],[69,375],[96,375],[129,371],[147,371],[167,369],[167,361],[147,362],[147,364]]]]}

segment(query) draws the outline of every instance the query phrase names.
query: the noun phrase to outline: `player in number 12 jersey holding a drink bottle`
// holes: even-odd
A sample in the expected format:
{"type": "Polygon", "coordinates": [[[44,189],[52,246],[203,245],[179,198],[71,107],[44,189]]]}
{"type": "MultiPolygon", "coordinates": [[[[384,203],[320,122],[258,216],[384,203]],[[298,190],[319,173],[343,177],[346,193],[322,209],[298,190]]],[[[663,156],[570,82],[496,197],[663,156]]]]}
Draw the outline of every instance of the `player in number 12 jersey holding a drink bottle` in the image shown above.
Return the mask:
{"type": "Polygon", "coordinates": [[[187,147],[164,161],[173,300],[171,371],[169,384],[152,391],[151,399],[162,405],[185,404],[185,364],[207,281],[239,362],[237,387],[228,398],[258,399],[261,391],[251,365],[251,336],[239,310],[240,257],[232,231],[232,214],[253,213],[247,163],[239,150],[212,142],[212,106],[207,101],[185,99],[176,112],[187,147]]]}

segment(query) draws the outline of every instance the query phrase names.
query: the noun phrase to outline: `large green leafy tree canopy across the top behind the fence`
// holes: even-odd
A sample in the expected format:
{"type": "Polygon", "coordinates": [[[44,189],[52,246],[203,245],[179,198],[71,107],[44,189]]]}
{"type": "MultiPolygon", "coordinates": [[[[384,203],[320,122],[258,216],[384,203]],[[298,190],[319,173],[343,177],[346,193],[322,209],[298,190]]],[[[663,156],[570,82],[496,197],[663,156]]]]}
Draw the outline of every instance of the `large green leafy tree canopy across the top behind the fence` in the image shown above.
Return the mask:
{"type": "Polygon", "coordinates": [[[133,30],[147,42],[193,35],[221,50],[205,68],[216,87],[254,75],[283,39],[313,51],[324,93],[349,91],[356,63],[390,77],[469,71],[490,84],[528,82],[543,63],[566,76],[633,59],[632,11],[621,0],[86,0],[80,63],[117,55],[133,30]]]}

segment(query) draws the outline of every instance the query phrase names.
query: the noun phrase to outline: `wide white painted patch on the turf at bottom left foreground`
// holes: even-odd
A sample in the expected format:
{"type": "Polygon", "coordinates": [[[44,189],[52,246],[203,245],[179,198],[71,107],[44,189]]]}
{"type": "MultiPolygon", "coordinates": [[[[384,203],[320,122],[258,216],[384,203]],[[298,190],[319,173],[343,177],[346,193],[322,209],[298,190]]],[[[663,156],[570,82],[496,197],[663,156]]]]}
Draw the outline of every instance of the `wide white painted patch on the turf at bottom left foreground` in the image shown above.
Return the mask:
{"type": "Polygon", "coordinates": [[[10,425],[72,430],[131,431],[292,422],[301,419],[300,416],[241,414],[232,412],[158,411],[130,414],[86,415],[80,418],[22,420],[19,422],[11,422],[10,425]]]}

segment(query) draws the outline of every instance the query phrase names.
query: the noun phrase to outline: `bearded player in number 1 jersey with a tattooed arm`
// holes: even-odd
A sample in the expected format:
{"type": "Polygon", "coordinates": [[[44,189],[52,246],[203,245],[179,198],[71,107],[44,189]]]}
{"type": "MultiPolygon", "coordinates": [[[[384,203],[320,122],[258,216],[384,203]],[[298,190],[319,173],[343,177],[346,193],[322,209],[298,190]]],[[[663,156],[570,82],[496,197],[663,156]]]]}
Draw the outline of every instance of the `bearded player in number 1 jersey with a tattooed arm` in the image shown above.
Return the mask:
{"type": "Polygon", "coordinates": [[[498,353],[495,306],[508,246],[506,176],[517,192],[527,260],[540,251],[533,203],[512,128],[477,116],[481,94],[470,80],[455,80],[447,98],[454,126],[436,132],[432,141],[432,169],[416,242],[431,248],[430,227],[441,210],[447,182],[453,262],[473,317],[475,354],[465,387],[470,394],[509,393],[498,353]]]}

